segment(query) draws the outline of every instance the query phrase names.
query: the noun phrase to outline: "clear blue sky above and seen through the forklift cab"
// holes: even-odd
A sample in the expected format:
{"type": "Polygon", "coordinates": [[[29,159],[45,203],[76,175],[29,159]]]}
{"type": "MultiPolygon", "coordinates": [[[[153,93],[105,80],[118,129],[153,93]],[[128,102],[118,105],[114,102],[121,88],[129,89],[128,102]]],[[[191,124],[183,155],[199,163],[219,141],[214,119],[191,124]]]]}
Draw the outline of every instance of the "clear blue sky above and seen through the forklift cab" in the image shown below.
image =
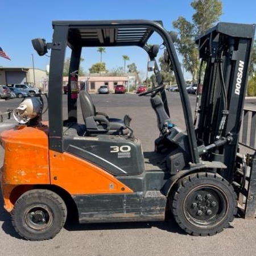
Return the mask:
{"type": "MultiPolygon", "coordinates": [[[[32,67],[32,54],[35,68],[46,69],[49,64],[47,56],[40,57],[32,48],[31,39],[52,39],[52,20],[102,20],[102,19],[151,19],[163,20],[167,30],[173,30],[172,21],[179,16],[191,20],[193,9],[191,0],[108,0],[108,1],[16,1],[8,0],[1,3],[0,46],[11,58],[0,57],[3,67],[32,67]]],[[[255,0],[224,0],[223,14],[220,21],[236,23],[256,23],[255,0]]],[[[122,55],[128,55],[138,70],[146,73],[147,57],[142,49],[106,48],[102,61],[107,69],[123,67],[122,55]]],[[[68,56],[66,56],[68,57],[68,56]]],[[[97,48],[82,52],[84,71],[93,63],[100,62],[97,48]]]]}

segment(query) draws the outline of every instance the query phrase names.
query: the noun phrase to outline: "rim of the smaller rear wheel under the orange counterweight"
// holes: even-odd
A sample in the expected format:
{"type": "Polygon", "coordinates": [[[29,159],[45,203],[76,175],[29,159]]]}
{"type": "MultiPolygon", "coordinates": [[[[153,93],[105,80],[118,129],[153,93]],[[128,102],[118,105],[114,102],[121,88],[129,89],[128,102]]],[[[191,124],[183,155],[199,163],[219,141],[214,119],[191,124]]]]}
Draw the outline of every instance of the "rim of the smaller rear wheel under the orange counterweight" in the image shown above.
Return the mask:
{"type": "Polygon", "coordinates": [[[51,210],[46,205],[33,205],[24,213],[24,221],[31,229],[47,229],[52,224],[51,210]]]}

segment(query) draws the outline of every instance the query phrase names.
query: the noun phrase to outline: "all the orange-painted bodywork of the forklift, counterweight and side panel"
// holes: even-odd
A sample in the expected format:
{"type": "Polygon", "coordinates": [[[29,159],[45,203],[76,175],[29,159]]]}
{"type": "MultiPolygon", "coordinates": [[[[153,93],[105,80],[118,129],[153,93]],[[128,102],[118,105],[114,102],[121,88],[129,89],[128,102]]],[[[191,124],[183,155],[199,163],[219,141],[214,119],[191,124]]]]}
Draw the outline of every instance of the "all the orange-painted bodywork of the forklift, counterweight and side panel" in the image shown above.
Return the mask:
{"type": "Polygon", "coordinates": [[[5,209],[33,185],[53,184],[71,195],[133,193],[96,165],[67,152],[48,150],[48,126],[16,126],[1,133],[5,158],[0,172],[5,209]]]}

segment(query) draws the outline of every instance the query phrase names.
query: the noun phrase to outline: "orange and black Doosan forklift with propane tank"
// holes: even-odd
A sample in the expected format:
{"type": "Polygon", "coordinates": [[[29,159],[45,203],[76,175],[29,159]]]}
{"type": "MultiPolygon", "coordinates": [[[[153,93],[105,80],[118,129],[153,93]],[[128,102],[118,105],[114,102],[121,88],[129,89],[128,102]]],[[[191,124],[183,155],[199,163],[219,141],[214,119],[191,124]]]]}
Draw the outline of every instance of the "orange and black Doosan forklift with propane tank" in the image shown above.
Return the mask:
{"type": "Polygon", "coordinates": [[[245,157],[238,147],[254,24],[221,22],[196,39],[204,78],[195,118],[175,51],[175,34],[162,22],[58,20],[52,26],[52,42],[32,40],[40,56],[51,49],[48,122],[42,121],[42,96],[26,98],[13,112],[18,124],[1,133],[4,207],[22,238],[55,237],[74,209],[80,223],[164,221],[171,214],[188,234],[212,236],[233,221],[244,191],[245,207],[240,212],[249,211],[254,217],[254,155],[245,157]],[[148,43],[155,34],[161,46],[148,43]],[[150,96],[158,122],[160,135],[152,141],[155,150],[150,154],[143,153],[133,133],[132,117],[97,113],[86,90],[77,94],[82,48],[118,46],[143,48],[150,58],[148,70],[155,72],[156,84],[139,94],[150,96]],[[164,61],[177,81],[185,131],[170,118],[156,61],[159,47],[164,48],[164,61]],[[72,75],[65,119],[67,48],[72,75]]]}

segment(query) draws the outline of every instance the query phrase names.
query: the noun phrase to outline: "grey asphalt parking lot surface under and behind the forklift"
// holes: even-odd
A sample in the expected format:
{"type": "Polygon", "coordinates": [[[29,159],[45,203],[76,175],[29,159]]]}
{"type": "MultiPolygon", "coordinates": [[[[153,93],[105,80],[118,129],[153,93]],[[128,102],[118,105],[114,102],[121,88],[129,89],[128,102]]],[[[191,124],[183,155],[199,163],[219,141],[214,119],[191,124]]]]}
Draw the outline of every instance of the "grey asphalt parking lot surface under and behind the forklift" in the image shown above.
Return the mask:
{"type": "MultiPolygon", "coordinates": [[[[129,114],[135,137],[141,139],[144,151],[154,150],[159,131],[149,97],[137,94],[93,94],[97,111],[110,117],[129,114]]],[[[172,122],[185,128],[179,93],[167,92],[172,122]]],[[[195,96],[189,96],[192,113],[195,96]]],[[[1,101],[0,110],[13,109],[20,99],[1,101]]],[[[64,113],[67,95],[63,95],[64,113]]],[[[255,109],[253,98],[246,108],[255,109]]],[[[79,108],[79,105],[78,105],[79,108]]],[[[47,113],[44,115],[47,119],[47,113]]],[[[81,114],[79,122],[82,122],[81,114]]],[[[0,149],[0,162],[3,150],[0,149]]],[[[18,163],[17,163],[18,164],[18,163]]],[[[255,255],[256,221],[236,218],[230,228],[213,237],[193,237],[185,234],[173,220],[167,222],[82,224],[69,222],[49,241],[21,240],[3,209],[0,195],[1,255],[255,255]]]]}

